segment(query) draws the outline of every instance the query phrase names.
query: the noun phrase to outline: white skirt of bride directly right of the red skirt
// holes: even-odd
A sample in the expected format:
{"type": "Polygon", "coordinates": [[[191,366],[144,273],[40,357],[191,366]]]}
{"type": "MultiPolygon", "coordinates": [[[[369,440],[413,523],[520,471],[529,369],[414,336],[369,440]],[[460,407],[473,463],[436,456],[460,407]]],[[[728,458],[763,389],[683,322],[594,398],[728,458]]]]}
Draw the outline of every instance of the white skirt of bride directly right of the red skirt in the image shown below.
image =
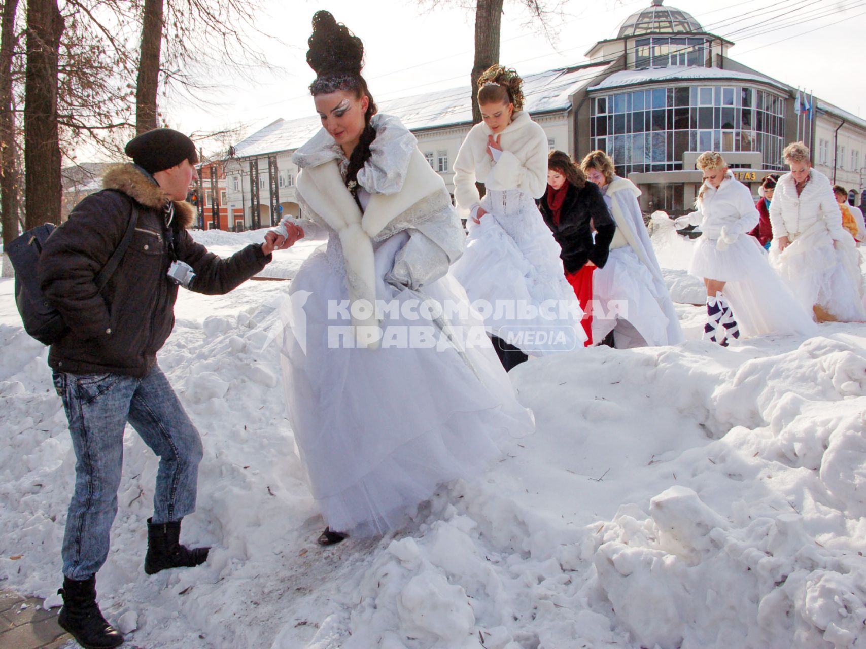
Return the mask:
{"type": "Polygon", "coordinates": [[[654,287],[650,269],[631,247],[611,250],[607,263],[595,272],[592,339],[600,342],[622,319],[637,330],[646,344],[669,344],[668,317],[654,287]]]}

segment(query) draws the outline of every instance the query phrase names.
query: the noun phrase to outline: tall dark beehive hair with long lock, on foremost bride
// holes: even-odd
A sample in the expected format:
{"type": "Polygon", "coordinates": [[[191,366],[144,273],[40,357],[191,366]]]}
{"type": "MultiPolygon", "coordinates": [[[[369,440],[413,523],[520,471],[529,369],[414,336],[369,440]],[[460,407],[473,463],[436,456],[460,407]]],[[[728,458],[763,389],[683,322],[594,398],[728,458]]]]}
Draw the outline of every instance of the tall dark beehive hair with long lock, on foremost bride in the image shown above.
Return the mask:
{"type": "MultiPolygon", "coordinates": [[[[364,67],[364,43],[352,34],[352,31],[341,22],[337,22],[329,11],[320,10],[313,14],[313,34],[307,40],[307,64],[316,73],[316,79],[310,84],[310,94],[334,93],[345,90],[355,93],[356,99],[366,96],[370,100],[364,113],[365,128],[361,132],[358,145],[349,157],[349,167],[346,170],[346,186],[352,186],[352,195],[357,191],[355,181],[358,172],[370,159],[370,145],[376,139],[376,129],[370,120],[376,114],[376,102],[367,88],[367,82],[361,76],[364,67]]],[[[356,196],[357,200],[357,196],[356,196]]]]}

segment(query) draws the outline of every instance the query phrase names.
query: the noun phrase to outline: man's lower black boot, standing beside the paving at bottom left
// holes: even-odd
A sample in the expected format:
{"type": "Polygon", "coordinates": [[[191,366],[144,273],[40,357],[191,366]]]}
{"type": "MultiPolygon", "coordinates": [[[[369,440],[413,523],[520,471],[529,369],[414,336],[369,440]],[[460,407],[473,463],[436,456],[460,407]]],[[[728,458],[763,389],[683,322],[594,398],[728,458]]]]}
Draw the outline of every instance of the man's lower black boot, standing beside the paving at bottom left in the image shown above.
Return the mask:
{"type": "Polygon", "coordinates": [[[96,605],[96,575],[84,582],[63,578],[63,607],[57,623],[84,649],[111,649],[123,644],[120,631],[112,627],[96,605]]]}

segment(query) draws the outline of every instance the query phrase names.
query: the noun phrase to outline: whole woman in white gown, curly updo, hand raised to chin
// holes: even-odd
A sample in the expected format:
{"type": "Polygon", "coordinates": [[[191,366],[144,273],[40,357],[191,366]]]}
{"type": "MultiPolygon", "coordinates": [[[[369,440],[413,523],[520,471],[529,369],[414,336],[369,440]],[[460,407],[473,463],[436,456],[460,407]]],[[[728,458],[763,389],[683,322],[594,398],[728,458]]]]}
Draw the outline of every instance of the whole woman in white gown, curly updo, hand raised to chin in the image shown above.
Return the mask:
{"type": "Polygon", "coordinates": [[[521,110],[522,83],[506,67],[481,74],[483,121],[469,131],[454,164],[457,209],[469,226],[455,277],[473,305],[485,307],[484,324],[506,369],[527,354],[580,349],[587,338],[561,249],[535,206],[547,189],[547,136],[521,110]],[[476,181],[485,184],[483,198],[476,181]]]}

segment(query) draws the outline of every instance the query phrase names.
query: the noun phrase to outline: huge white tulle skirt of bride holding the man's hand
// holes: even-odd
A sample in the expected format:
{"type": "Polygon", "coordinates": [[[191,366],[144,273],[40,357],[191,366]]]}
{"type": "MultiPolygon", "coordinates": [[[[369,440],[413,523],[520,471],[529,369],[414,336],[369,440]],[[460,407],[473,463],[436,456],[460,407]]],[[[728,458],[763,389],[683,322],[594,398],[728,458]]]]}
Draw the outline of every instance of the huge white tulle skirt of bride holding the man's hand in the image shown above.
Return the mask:
{"type": "Polygon", "coordinates": [[[502,440],[534,427],[453,277],[423,294],[385,284],[407,238],[395,235],[375,253],[378,299],[397,305],[379,349],[352,346],[341,333],[351,321],[337,306],[348,295],[335,237],[304,262],[281,306],[298,451],[326,524],[355,536],[399,525],[437,485],[480,475],[502,440]],[[427,318],[417,304],[428,298],[466,308],[427,318]]]}

